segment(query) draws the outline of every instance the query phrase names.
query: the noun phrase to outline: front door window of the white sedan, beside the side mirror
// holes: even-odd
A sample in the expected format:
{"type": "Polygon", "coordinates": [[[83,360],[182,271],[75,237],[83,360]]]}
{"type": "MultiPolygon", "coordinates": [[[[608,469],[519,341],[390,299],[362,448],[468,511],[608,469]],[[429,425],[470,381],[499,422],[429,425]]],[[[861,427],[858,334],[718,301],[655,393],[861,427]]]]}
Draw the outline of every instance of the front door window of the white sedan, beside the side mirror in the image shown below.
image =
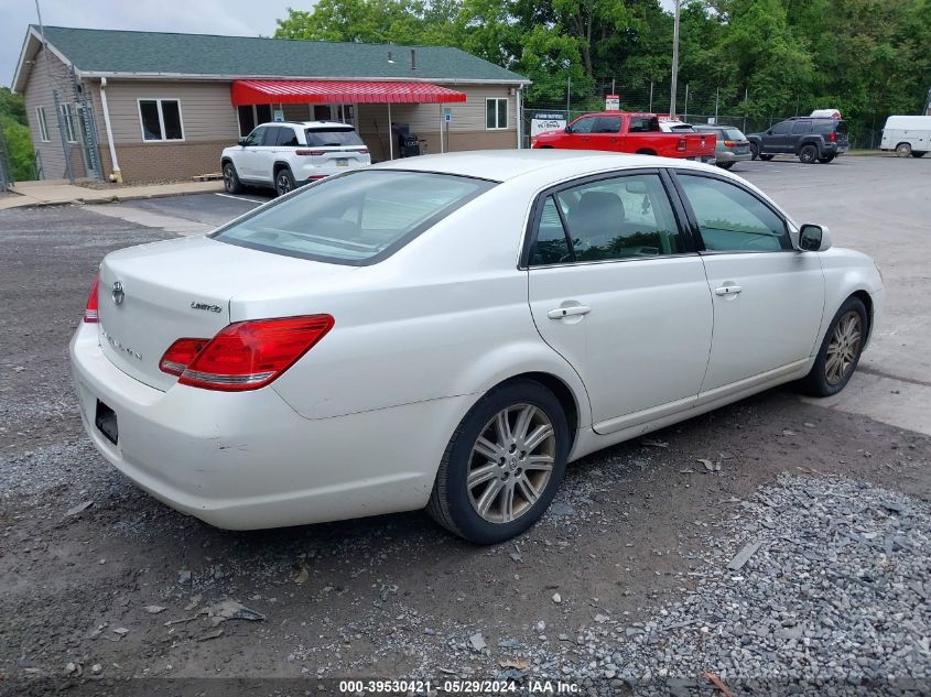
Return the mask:
{"type": "Polygon", "coordinates": [[[708,251],[778,252],[792,249],[786,221],[756,196],[722,179],[691,174],[676,176],[708,251]]]}

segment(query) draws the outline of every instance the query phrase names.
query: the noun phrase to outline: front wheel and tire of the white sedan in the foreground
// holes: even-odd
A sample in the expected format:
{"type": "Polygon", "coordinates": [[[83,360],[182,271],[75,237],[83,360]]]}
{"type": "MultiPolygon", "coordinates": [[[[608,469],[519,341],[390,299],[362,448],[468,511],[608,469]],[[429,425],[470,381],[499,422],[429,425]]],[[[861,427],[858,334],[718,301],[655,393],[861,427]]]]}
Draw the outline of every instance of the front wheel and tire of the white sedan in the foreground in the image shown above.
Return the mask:
{"type": "Polygon", "coordinates": [[[843,390],[859,363],[868,335],[866,307],[858,297],[851,296],[831,320],[814,366],[803,380],[804,391],[813,396],[831,396],[843,390]],[[838,355],[841,358],[835,358],[838,355]]]}

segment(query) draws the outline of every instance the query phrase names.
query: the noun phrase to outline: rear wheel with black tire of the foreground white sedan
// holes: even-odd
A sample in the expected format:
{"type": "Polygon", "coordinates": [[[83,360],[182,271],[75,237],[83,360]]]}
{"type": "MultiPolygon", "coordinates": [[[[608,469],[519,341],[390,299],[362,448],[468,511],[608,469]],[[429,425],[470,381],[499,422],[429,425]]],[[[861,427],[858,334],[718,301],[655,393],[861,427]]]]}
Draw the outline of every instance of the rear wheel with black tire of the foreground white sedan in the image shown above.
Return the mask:
{"type": "Polygon", "coordinates": [[[509,540],[549,508],[562,482],[569,448],[569,424],[552,392],[532,380],[496,388],[469,410],[450,439],[426,511],[469,542],[488,545],[509,540]],[[502,417],[512,437],[502,433],[502,417]],[[549,435],[528,453],[520,447],[521,432],[538,438],[549,435]],[[527,466],[531,457],[540,459],[524,470],[521,465],[527,466]],[[472,488],[469,473],[478,477],[472,488]]]}

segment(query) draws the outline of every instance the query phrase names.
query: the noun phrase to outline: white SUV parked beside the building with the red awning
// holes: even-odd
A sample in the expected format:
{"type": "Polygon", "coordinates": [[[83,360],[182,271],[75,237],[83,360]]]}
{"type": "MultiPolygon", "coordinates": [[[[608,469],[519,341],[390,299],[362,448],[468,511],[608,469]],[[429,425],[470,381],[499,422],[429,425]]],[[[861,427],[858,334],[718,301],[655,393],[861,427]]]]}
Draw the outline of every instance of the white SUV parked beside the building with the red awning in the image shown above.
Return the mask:
{"type": "Polygon", "coordinates": [[[262,123],[238,145],[225,148],[223,182],[227,193],[246,185],[291,189],[351,167],[371,164],[368,149],[351,126],[332,121],[262,123]]]}

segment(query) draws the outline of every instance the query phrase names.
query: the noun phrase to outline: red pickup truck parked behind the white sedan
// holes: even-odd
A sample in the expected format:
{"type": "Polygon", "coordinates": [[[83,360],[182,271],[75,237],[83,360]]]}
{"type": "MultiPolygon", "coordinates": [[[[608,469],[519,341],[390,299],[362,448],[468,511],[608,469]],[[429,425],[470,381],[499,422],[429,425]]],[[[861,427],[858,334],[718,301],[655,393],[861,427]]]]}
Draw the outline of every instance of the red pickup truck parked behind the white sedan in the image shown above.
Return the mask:
{"type": "Polygon", "coordinates": [[[562,131],[540,133],[532,148],[608,150],[714,163],[714,133],[664,133],[654,113],[586,113],[562,131]]]}

